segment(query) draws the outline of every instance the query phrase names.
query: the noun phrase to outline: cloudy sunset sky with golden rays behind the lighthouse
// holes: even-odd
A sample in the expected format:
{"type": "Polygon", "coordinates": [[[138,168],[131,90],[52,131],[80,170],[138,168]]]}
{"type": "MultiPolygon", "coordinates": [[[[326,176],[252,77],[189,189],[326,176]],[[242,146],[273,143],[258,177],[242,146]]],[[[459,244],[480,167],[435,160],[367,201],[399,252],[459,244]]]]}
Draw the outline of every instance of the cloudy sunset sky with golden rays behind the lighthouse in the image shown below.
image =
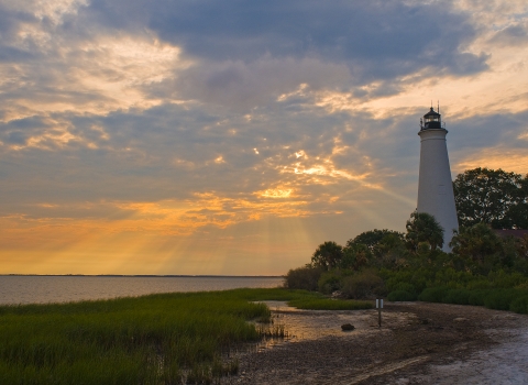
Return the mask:
{"type": "Polygon", "coordinates": [[[526,0],[0,0],[0,274],[280,275],[404,231],[419,119],[528,173],[526,0]]]}

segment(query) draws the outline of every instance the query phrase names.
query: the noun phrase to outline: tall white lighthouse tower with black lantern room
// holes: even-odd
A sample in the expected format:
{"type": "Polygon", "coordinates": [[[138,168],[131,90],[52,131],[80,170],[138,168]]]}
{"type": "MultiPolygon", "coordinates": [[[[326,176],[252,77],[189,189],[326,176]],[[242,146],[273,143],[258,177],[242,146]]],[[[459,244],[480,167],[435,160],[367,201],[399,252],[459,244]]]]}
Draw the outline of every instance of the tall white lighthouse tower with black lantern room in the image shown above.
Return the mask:
{"type": "MultiPolygon", "coordinates": [[[[439,109],[440,110],[440,109],[439,109]]],[[[427,212],[443,228],[443,248],[451,251],[449,242],[453,230],[459,229],[454,206],[451,168],[449,167],[446,130],[440,113],[431,110],[420,119],[420,176],[418,183],[418,212],[427,212]]]]}

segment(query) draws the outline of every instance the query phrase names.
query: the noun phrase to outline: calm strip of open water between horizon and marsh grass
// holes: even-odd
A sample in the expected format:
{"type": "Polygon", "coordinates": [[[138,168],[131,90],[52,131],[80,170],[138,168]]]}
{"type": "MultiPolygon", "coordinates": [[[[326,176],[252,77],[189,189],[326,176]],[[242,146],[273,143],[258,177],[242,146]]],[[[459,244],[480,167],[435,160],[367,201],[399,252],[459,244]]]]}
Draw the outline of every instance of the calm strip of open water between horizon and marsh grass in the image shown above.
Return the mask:
{"type": "Polygon", "coordinates": [[[282,277],[0,276],[0,304],[69,302],[153,293],[277,287],[282,277]]]}

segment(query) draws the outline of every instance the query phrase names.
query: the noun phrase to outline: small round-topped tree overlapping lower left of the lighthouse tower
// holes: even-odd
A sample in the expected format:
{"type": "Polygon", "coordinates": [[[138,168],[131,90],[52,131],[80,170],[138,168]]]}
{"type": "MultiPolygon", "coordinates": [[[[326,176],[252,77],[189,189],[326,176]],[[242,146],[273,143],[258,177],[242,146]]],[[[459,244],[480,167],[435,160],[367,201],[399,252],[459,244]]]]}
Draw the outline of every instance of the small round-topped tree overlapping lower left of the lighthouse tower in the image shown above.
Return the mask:
{"type": "Polygon", "coordinates": [[[430,213],[413,212],[406,228],[405,240],[411,251],[416,252],[422,242],[428,243],[431,250],[443,246],[443,228],[430,213]]]}

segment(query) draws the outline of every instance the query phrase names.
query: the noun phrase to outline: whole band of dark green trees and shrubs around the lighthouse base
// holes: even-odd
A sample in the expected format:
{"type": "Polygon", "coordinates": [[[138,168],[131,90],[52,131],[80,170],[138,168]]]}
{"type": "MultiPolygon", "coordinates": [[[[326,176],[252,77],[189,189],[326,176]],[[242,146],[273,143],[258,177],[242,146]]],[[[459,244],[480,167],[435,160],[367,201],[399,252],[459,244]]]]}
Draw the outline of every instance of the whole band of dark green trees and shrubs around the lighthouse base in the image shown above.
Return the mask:
{"type": "Polygon", "coordinates": [[[528,228],[527,180],[487,168],[459,175],[453,186],[461,227],[451,253],[441,250],[443,229],[435,218],[414,212],[405,233],[375,229],[344,246],[320,244],[309,264],[288,272],[286,285],[356,299],[420,299],[528,312],[528,234],[502,238],[494,231],[528,228]],[[472,205],[468,197],[474,196],[480,198],[472,205]]]}

